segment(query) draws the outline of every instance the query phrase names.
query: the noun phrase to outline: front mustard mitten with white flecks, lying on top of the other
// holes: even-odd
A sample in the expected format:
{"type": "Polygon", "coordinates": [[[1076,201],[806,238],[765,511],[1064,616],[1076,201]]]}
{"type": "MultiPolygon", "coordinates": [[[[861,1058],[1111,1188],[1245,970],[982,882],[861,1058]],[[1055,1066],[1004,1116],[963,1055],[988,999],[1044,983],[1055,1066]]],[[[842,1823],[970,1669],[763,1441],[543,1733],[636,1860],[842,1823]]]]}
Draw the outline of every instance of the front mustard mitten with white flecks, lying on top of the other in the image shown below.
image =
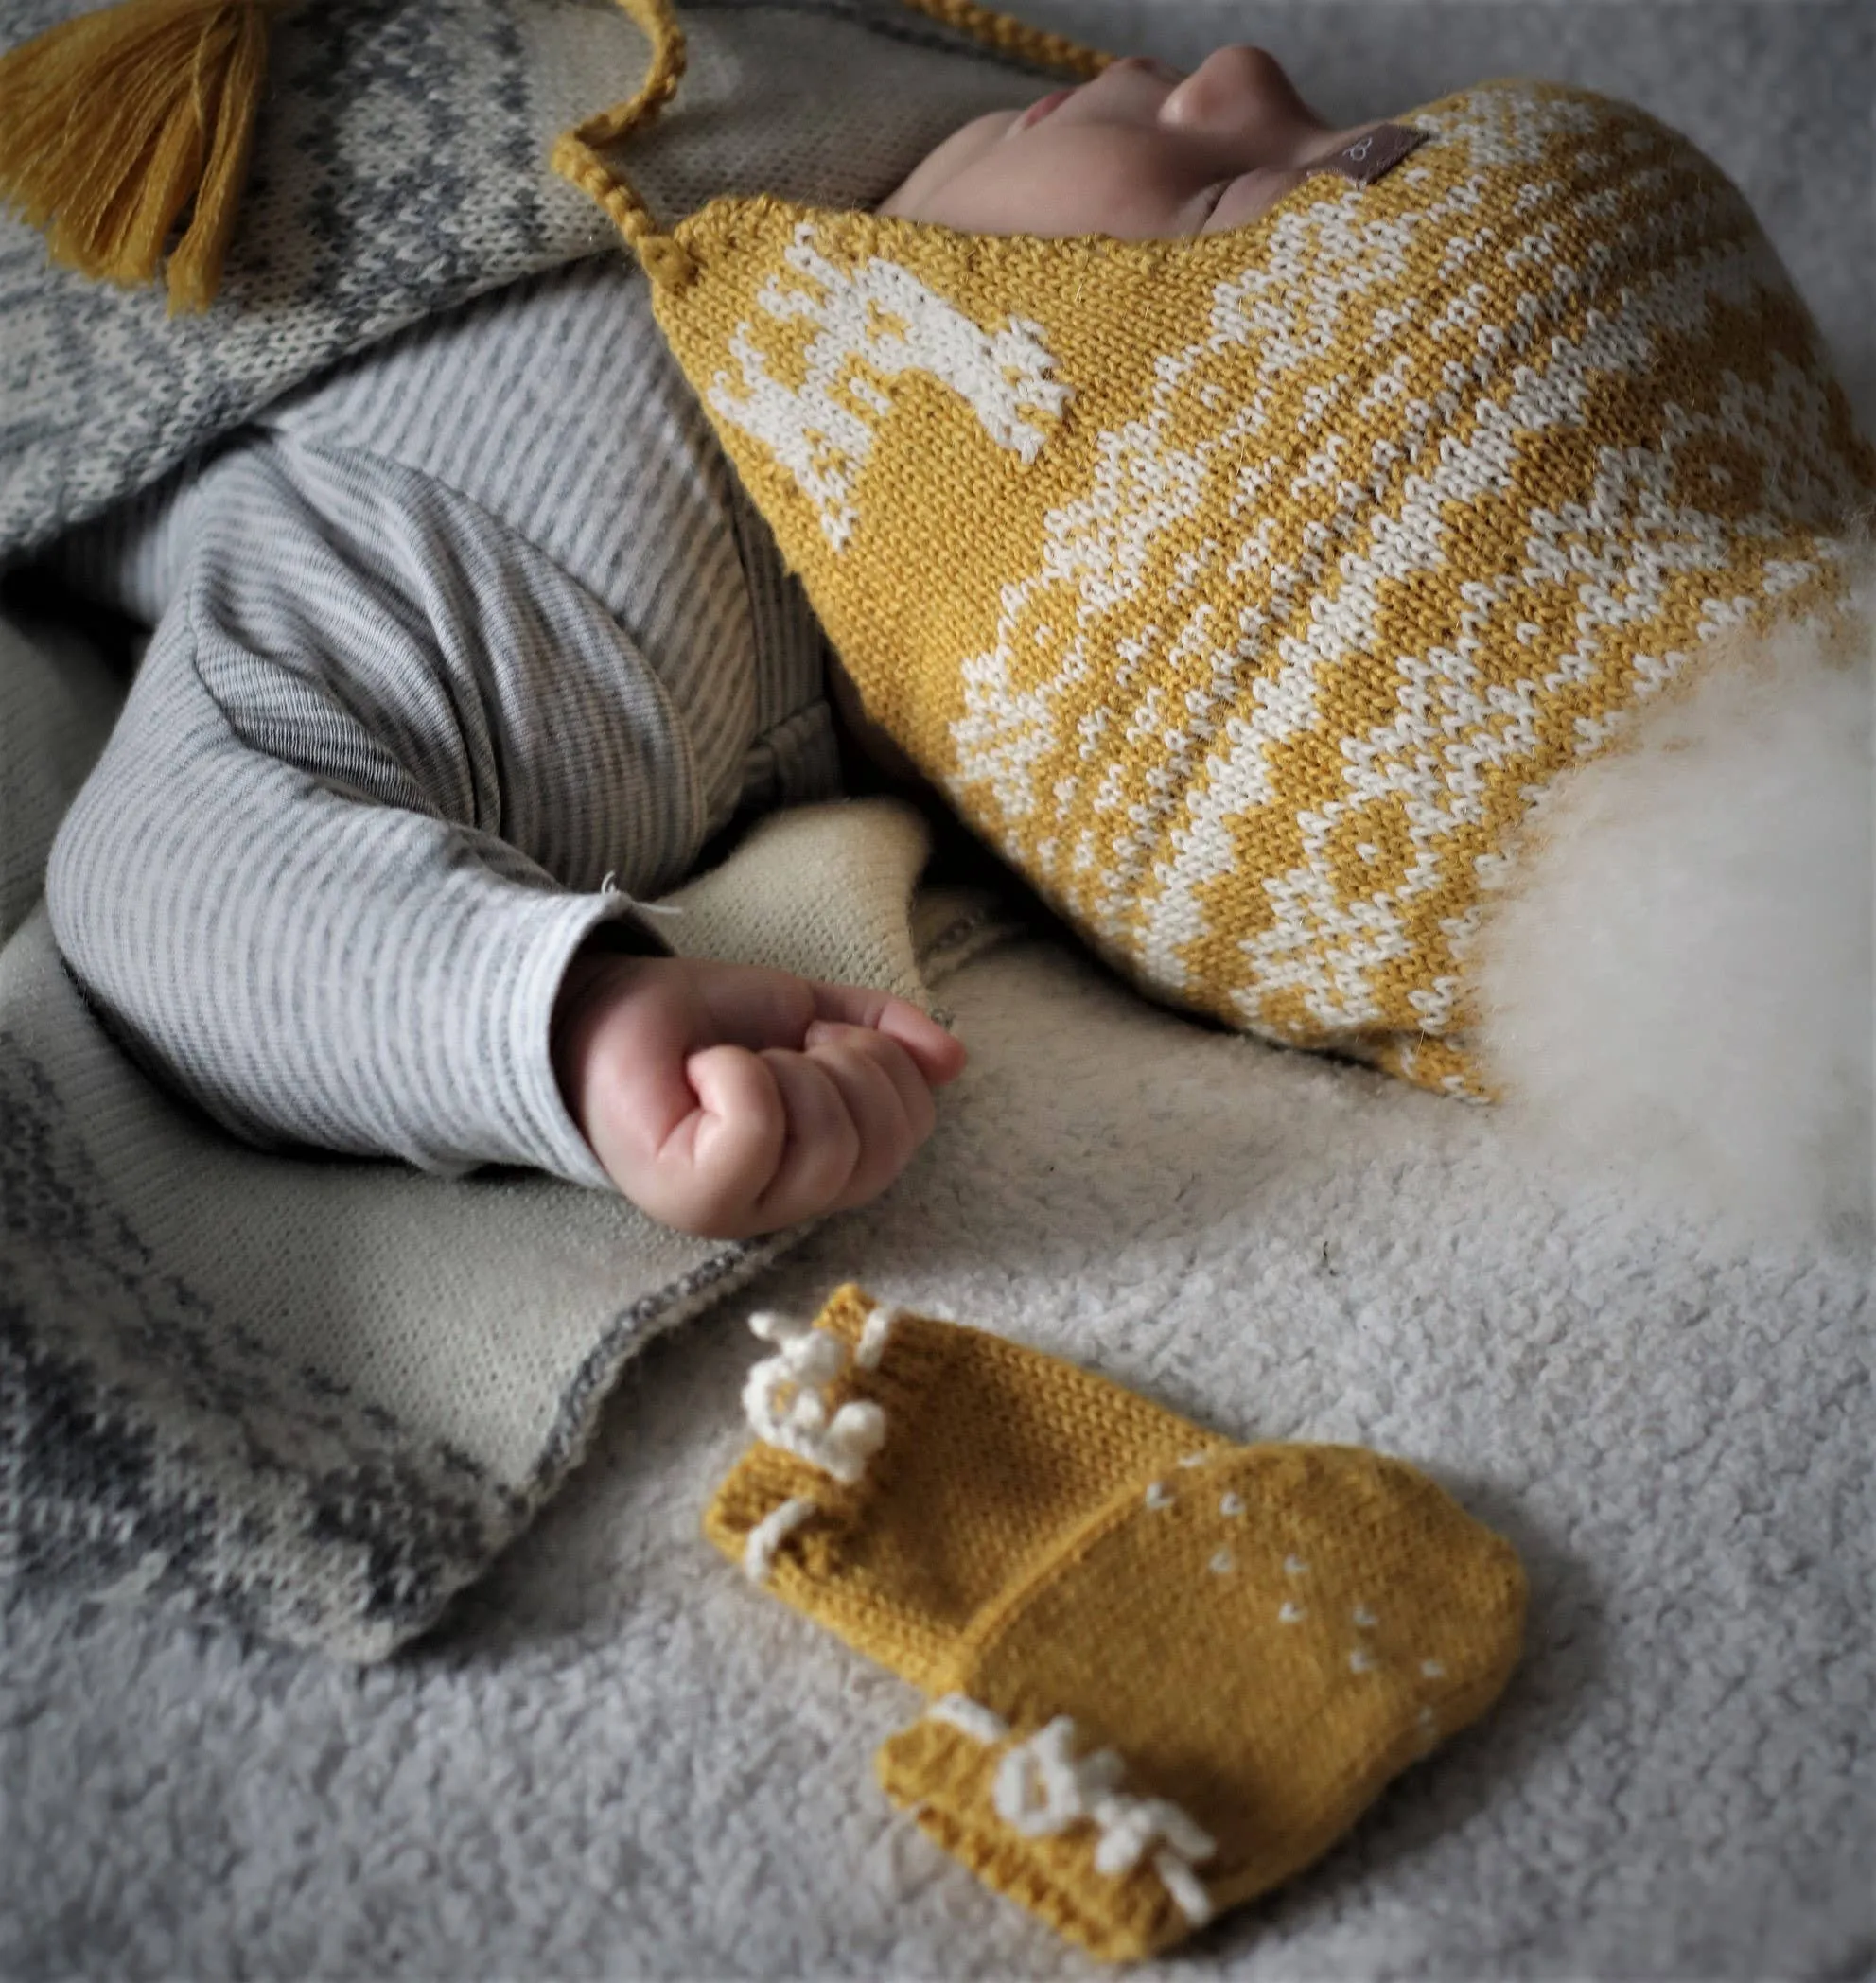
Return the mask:
{"type": "Polygon", "coordinates": [[[1511,1547],[1398,1459],[1228,1448],[1120,1489],[988,1604],[880,1781],[1061,1933],[1146,1955],[1477,1719],[1523,1608],[1511,1547]]]}

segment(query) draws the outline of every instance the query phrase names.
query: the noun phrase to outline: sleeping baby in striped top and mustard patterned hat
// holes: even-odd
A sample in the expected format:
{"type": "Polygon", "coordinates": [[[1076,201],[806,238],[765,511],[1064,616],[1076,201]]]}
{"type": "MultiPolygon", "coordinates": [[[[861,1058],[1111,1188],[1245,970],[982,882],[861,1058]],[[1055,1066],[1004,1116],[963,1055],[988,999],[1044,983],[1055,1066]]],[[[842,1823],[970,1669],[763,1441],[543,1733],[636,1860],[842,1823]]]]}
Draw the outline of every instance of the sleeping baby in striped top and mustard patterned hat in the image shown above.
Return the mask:
{"type": "Polygon", "coordinates": [[[835,706],[1144,990],[1473,1093],[1523,815],[1828,609],[1876,484],[1737,194],[1581,91],[1126,59],[672,234],[577,165],[650,282],[426,321],[61,547],[153,635],[54,930],[256,1142],[720,1235],[884,1190],[964,1049],[637,906],[839,791],[835,706]]]}

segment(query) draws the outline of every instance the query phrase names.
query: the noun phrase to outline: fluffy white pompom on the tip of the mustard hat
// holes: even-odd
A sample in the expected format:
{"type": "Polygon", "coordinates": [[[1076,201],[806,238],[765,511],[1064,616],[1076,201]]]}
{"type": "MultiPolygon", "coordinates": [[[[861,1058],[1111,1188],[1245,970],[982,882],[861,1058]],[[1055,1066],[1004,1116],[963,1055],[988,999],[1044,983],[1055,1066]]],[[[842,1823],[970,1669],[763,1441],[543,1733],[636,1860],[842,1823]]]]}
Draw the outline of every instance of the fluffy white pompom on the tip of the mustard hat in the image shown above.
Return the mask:
{"type": "Polygon", "coordinates": [[[1539,809],[1477,948],[1507,1120],[1787,1235],[1872,1216],[1876,559],[1852,609],[1715,639],[1539,809]]]}

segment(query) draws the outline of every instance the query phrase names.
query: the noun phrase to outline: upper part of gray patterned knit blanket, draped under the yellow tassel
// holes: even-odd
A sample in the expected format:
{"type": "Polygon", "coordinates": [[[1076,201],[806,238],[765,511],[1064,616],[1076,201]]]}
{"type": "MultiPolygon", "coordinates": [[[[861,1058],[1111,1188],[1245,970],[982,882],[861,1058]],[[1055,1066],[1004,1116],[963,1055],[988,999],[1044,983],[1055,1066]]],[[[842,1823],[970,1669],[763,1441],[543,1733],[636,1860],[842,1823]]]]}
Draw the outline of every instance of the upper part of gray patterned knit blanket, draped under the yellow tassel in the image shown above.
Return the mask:
{"type": "MultiPolygon", "coordinates": [[[[22,0],[6,42],[89,0],[22,0]]],[[[1035,71],[896,0],[700,0],[690,67],[635,137],[666,218],[718,192],[880,198],[1035,71]]],[[[0,561],[159,480],[301,379],[484,290],[621,252],[547,169],[557,133],[633,95],[646,44],[611,0],[321,0],[274,26],[222,293],[48,266],[0,222],[0,561]]]]}

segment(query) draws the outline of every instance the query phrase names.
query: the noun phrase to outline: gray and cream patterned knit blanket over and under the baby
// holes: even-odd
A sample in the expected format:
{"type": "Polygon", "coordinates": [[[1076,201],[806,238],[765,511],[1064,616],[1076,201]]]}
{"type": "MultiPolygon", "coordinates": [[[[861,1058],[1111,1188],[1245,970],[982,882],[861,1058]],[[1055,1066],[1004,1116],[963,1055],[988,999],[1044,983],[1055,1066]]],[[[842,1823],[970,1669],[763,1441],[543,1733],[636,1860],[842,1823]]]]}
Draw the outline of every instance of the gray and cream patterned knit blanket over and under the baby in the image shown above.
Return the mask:
{"type": "MultiPolygon", "coordinates": [[[[10,40],[65,10],[28,0],[10,40]]],[[[875,200],[1037,87],[892,0],[684,18],[690,73],[633,149],[662,214],[718,190],[875,200]]],[[[599,0],[288,14],[222,295],[196,319],[50,268],[38,234],[0,224],[0,559],[407,323],[615,252],[547,153],[635,91],[645,54],[599,0]]],[[[377,1660],[518,1535],[648,1335],[785,1237],[686,1239],[537,1176],[258,1154],[147,1081],[38,906],[119,688],[71,629],[0,621],[0,1576],[377,1660]]],[[[682,948],[922,995],[982,934],[956,900],[910,914],[922,859],[886,801],[777,815],[686,890],[682,948]]]]}

